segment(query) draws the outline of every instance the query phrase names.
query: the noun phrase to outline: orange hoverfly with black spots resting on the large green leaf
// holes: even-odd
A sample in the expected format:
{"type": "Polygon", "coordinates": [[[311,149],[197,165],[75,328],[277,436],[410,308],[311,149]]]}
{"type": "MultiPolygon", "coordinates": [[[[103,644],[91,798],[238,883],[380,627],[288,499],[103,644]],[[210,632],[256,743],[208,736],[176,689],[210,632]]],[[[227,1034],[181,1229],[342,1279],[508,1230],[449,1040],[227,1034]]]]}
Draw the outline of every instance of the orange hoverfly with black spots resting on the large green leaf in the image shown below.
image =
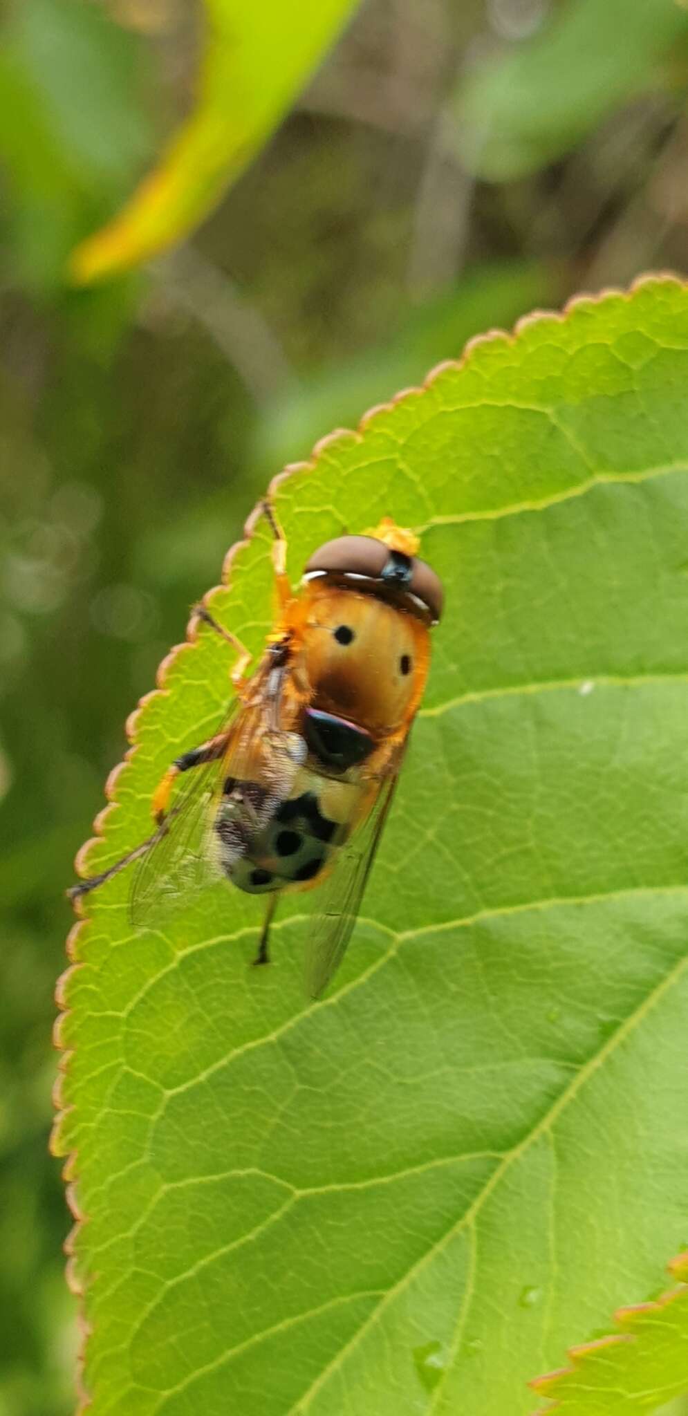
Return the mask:
{"type": "Polygon", "coordinates": [[[251,654],[197,606],[238,654],[229,715],[163,776],[153,835],[69,895],[137,861],[130,915],[146,926],[227,877],[266,896],[255,963],[268,963],[280,892],[321,885],[306,950],[307,990],[317,997],[351,937],[423,695],[443,589],[416,558],[418,538],[386,517],[375,531],[321,545],[293,592],[285,535],[269,501],[262,511],[279,617],[255,673],[245,677],[251,654]]]}

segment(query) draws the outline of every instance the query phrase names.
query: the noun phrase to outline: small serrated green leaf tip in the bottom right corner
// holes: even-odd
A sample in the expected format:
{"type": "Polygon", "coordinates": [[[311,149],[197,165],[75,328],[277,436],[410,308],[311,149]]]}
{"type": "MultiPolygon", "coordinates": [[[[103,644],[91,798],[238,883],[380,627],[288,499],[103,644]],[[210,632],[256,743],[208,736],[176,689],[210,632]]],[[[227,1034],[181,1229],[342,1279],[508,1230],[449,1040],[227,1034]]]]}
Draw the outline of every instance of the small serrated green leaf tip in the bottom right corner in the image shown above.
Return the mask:
{"type": "MultiPolygon", "coordinates": [[[[675,1276],[688,1277],[688,1255],[675,1276]]],[[[541,1416],[641,1416],[688,1391],[688,1284],[654,1303],[620,1308],[616,1331],[572,1348],[573,1366],[539,1376],[531,1385],[554,1405],[541,1416]]]]}

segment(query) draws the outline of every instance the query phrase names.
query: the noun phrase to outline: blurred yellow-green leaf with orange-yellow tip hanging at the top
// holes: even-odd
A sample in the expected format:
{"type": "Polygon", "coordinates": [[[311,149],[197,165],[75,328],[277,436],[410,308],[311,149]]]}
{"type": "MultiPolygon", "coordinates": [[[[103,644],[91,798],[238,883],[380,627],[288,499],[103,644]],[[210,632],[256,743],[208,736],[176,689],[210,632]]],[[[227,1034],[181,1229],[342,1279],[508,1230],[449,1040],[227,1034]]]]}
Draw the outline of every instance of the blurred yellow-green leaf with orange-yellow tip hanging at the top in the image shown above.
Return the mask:
{"type": "Polygon", "coordinates": [[[280,0],[204,0],[198,103],[122,212],[74,251],[74,280],[139,265],[197,227],[276,127],[354,4],[319,0],[296,13],[280,0]]]}

